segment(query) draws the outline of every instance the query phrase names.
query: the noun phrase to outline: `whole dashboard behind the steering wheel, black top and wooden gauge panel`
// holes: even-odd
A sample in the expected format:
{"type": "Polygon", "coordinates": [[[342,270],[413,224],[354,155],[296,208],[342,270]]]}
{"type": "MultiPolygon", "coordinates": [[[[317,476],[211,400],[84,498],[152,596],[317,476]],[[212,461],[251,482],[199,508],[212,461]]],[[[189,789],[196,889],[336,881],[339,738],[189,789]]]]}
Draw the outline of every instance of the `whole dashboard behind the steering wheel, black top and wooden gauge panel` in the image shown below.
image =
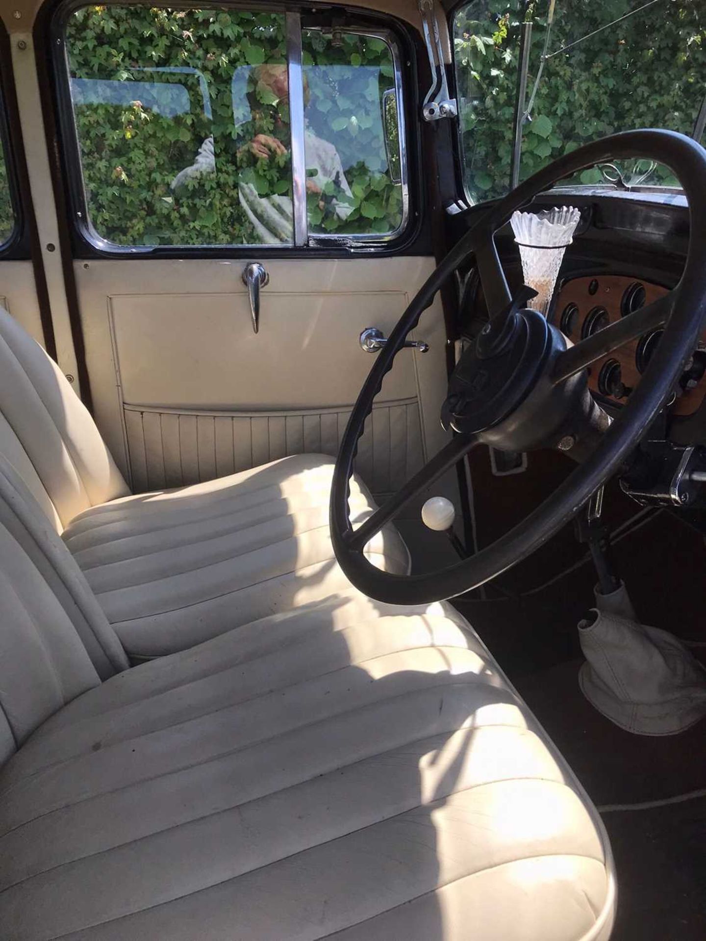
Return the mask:
{"type": "MultiPolygon", "coordinates": [[[[575,187],[542,194],[533,206],[539,210],[558,203],[581,212],[549,311],[550,321],[572,343],[632,316],[681,279],[691,224],[682,196],[575,187]]],[[[480,205],[450,215],[452,243],[485,211],[480,205]]],[[[523,273],[511,226],[496,233],[495,246],[515,296],[523,273]]],[[[488,322],[488,308],[473,259],[464,274],[458,332],[473,343],[488,322]]],[[[591,365],[589,388],[609,414],[629,401],[660,336],[660,330],[651,330],[591,365]]],[[[676,510],[706,535],[706,328],[667,407],[621,467],[618,483],[637,502],[676,510]]]]}

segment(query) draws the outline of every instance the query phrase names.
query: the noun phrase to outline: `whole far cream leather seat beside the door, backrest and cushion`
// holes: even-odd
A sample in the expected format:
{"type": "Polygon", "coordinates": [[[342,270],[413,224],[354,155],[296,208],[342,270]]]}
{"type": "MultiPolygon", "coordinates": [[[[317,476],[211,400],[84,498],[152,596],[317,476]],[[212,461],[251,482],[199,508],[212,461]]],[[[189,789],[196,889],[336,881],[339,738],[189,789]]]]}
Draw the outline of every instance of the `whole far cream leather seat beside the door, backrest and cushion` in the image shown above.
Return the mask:
{"type": "MultiPolygon", "coordinates": [[[[183,650],[347,585],[329,537],[332,457],[286,457],[131,494],[56,363],[2,309],[0,454],[63,535],[134,658],[183,650]]],[[[354,482],[352,512],[364,518],[373,508],[354,482]]],[[[392,528],[368,552],[388,570],[409,566],[392,528]]]]}

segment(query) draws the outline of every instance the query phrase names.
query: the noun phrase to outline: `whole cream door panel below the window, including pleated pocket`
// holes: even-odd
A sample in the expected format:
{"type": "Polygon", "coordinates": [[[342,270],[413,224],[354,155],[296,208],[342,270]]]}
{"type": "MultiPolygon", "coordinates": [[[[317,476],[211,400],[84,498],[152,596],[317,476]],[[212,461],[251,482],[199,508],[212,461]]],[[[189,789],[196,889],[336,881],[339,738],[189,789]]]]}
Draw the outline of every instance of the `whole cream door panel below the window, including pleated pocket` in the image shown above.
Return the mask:
{"type": "MultiPolygon", "coordinates": [[[[264,263],[258,334],[245,261],[76,263],[96,420],[136,489],[335,454],[374,362],[361,330],[389,334],[433,268],[401,257],[264,263]]],[[[445,440],[438,303],[417,336],[430,351],[399,354],[361,439],[358,467],[378,495],[445,440]]]]}

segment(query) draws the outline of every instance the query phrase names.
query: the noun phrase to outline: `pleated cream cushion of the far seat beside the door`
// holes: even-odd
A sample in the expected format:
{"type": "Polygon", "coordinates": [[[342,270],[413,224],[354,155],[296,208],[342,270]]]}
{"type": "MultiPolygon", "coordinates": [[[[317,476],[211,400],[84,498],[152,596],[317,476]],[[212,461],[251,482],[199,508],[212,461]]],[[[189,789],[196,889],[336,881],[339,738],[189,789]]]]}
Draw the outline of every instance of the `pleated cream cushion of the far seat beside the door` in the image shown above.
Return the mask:
{"type": "MultiPolygon", "coordinates": [[[[172,653],[347,588],[329,536],[333,465],[297,455],[123,497],[80,513],[63,538],[127,652],[172,653]]],[[[360,480],[350,504],[354,519],[375,508],[360,480]]],[[[367,551],[381,568],[408,570],[392,528],[367,551]]]]}

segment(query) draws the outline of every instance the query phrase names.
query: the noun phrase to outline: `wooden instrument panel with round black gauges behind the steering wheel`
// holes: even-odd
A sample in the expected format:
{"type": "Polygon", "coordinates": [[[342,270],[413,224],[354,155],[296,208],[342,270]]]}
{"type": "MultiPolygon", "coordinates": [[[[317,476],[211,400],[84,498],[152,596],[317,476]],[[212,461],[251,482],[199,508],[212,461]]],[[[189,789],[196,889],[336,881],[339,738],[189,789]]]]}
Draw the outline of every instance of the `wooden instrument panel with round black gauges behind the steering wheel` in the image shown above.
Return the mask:
{"type": "MultiPolygon", "coordinates": [[[[644,279],[597,274],[566,279],[554,298],[550,319],[573,343],[597,333],[621,317],[629,317],[668,289],[644,279]]],[[[611,404],[624,404],[638,385],[654,352],[661,330],[652,330],[634,343],[626,343],[589,368],[588,384],[611,404]]],[[[675,393],[673,415],[693,415],[706,397],[706,331],[675,393]]]]}

